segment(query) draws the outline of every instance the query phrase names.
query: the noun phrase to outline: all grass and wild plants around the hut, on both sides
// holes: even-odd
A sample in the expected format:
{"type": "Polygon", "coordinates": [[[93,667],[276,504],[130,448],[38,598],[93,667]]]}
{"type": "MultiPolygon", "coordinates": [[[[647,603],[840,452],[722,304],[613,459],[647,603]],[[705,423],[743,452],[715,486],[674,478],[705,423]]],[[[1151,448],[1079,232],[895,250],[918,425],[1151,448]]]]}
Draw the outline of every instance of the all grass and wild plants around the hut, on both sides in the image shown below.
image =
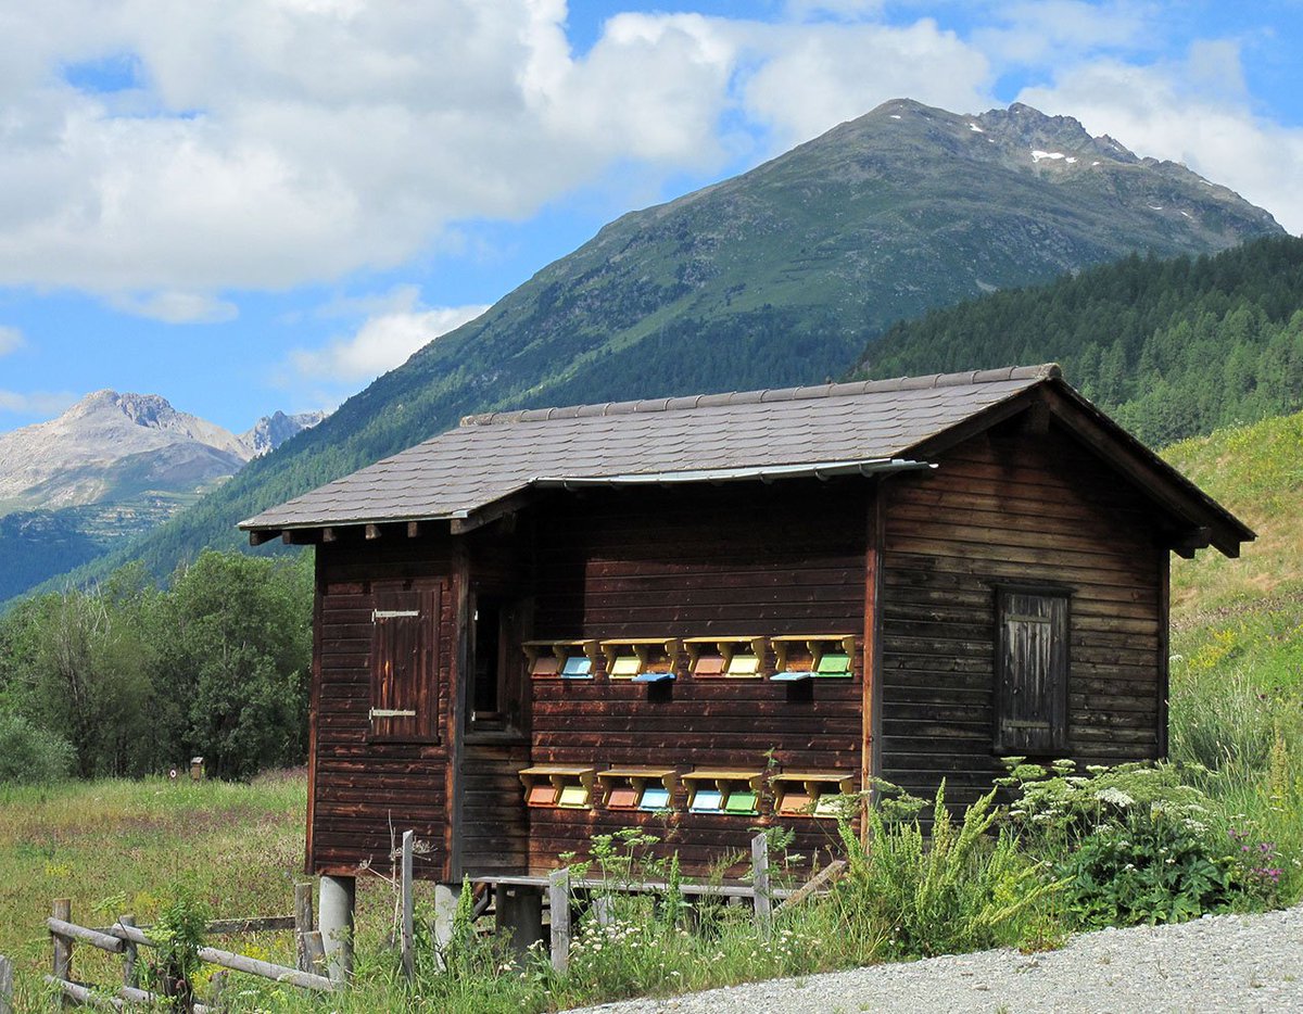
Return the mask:
{"type": "MultiPolygon", "coordinates": [[[[936,850],[930,855],[921,850],[907,824],[893,825],[882,832],[889,847],[877,856],[860,855],[844,888],[792,914],[773,940],[760,937],[739,910],[721,908],[689,928],[674,906],[622,902],[612,925],[577,927],[567,976],[552,976],[542,961],[513,963],[500,946],[472,944],[465,936],[450,958],[452,974],[437,972],[427,949],[417,987],[408,991],[388,946],[394,893],[377,876],[360,884],[356,989],[327,1002],[241,980],[232,1010],[547,1010],[803,975],[941,948],[1046,946],[1101,920],[1165,920],[1298,902],[1303,898],[1303,414],[1187,441],[1165,456],[1259,533],[1243,559],[1226,560],[1204,550],[1195,560],[1175,560],[1173,570],[1175,764],[1154,798],[1162,807],[1184,807],[1184,822],[1200,828],[1197,835],[1182,839],[1186,854],[1203,850],[1195,859],[1212,856],[1225,873],[1203,894],[1118,915],[1118,897],[1139,890],[1126,880],[1139,860],[1118,848],[1154,830],[1143,813],[1104,815],[1108,820],[1093,832],[1076,832],[1072,839],[1016,821],[988,824],[986,830],[1003,826],[989,848],[976,843],[990,842],[989,835],[956,826],[945,864],[936,850]],[[1192,821],[1190,813],[1201,816],[1192,821]],[[1074,850],[1084,858],[1053,859],[1074,850]],[[1106,863],[1101,865],[1105,852],[1128,863],[1123,867],[1119,859],[1110,873],[1106,863]],[[1052,871],[1048,877],[1045,871],[1052,871]],[[1003,902],[993,907],[994,898],[1003,902]],[[1010,905],[1010,898],[1027,903],[1010,905]],[[933,936],[934,927],[946,927],[950,936],[933,936]]],[[[1041,777],[1054,782],[1054,775],[1041,777]]],[[[1138,794],[1138,786],[1144,791],[1143,778],[1093,777],[1113,779],[1087,786],[1087,795],[1098,786],[1089,803],[1095,818],[1101,817],[1098,799],[1143,799],[1138,794]]],[[[1061,778],[1057,789],[1037,796],[1044,826],[1058,828],[1062,835],[1074,833],[1072,821],[1084,812],[1083,790],[1072,789],[1071,781],[1061,778]]],[[[56,897],[72,898],[74,920],[83,924],[107,924],[120,912],[134,912],[147,923],[177,884],[186,885],[214,916],[288,914],[292,885],[302,876],[304,812],[302,772],[267,774],[249,785],[152,779],[0,786],[0,954],[17,966],[17,1009],[35,1010],[46,1002],[39,976],[48,967],[50,941],[42,925],[56,897]]],[[[985,818],[969,815],[972,828],[985,818]]],[[[616,841],[607,848],[616,871],[637,862],[637,842],[616,841]]],[[[1156,845],[1170,855],[1166,848],[1156,845]]],[[[429,915],[427,906],[423,914],[429,915]]],[[[231,938],[218,946],[292,963],[288,934],[231,938]]],[[[85,946],[77,949],[77,968],[81,978],[103,983],[119,974],[116,959],[85,946]]]]}

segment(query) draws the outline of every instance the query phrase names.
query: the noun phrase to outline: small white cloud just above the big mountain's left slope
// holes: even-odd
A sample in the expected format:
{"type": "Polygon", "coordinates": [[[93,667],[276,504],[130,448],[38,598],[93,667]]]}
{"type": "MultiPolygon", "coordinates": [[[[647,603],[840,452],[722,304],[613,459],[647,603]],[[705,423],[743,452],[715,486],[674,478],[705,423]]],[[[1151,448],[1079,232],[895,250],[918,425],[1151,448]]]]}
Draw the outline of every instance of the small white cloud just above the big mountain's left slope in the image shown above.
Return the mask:
{"type": "MultiPolygon", "coordinates": [[[[414,297],[414,293],[413,293],[414,297]]],[[[394,306],[366,319],[357,332],[321,349],[294,349],[289,365],[304,378],[335,382],[370,381],[487,310],[487,306],[443,306],[433,310],[394,306]]]]}

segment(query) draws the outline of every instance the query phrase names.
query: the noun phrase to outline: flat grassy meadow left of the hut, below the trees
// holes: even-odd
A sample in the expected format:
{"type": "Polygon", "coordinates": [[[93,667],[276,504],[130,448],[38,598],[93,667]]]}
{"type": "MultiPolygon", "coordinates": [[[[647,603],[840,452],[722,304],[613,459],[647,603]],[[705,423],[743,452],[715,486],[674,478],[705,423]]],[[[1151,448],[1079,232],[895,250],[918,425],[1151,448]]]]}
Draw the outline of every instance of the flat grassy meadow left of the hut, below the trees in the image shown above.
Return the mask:
{"type": "MultiPolygon", "coordinates": [[[[219,916],[288,915],[301,878],[305,808],[302,773],[253,785],[0,786],[0,954],[16,964],[18,1009],[35,1009],[48,971],[44,920],[55,898],[72,899],[73,921],[82,925],[125,912],[149,923],[179,882],[219,916]]],[[[292,953],[287,940],[258,946],[292,953]]],[[[121,975],[120,963],[90,948],[77,949],[76,970],[93,981],[121,975]]]]}

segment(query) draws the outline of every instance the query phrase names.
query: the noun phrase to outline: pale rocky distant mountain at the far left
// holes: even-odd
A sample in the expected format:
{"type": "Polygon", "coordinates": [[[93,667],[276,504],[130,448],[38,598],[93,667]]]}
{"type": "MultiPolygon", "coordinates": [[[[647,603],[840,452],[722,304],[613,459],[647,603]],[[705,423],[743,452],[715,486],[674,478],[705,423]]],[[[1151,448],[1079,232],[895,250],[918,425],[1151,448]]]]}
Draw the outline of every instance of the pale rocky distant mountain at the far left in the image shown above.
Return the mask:
{"type": "Polygon", "coordinates": [[[236,435],[160,395],[95,391],[0,434],[0,601],[162,524],[323,413],[236,435]]]}

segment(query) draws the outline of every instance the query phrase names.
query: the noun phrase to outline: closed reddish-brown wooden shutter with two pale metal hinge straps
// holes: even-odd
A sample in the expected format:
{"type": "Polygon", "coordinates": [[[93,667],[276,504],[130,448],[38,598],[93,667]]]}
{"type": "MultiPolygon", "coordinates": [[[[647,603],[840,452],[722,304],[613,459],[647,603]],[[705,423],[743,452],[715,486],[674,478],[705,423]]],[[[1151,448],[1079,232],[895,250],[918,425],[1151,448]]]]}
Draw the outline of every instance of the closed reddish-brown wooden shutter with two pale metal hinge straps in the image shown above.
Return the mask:
{"type": "Polygon", "coordinates": [[[369,714],[373,739],[438,738],[439,600],[439,588],[375,589],[369,714]]]}

